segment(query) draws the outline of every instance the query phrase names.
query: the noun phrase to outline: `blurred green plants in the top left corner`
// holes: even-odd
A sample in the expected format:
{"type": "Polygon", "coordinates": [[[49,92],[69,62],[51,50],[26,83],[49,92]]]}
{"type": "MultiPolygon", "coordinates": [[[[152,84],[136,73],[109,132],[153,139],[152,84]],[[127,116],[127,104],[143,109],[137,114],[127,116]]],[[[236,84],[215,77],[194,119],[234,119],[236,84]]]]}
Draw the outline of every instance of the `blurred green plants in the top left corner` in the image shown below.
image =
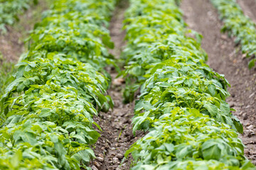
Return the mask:
{"type": "Polygon", "coordinates": [[[26,11],[37,0],[0,0],[0,30],[6,33],[6,25],[13,25],[18,16],[26,11]]]}

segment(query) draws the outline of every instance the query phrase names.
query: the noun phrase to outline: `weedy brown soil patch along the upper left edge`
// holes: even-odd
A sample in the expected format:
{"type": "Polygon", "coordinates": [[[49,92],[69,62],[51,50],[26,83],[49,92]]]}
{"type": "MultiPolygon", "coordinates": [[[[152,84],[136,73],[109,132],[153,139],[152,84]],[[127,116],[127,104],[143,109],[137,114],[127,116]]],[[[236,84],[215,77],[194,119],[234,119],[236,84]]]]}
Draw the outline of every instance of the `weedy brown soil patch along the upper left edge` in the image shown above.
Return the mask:
{"type": "Polygon", "coordinates": [[[0,33],[0,52],[4,61],[17,62],[20,55],[25,51],[24,40],[28,37],[29,30],[33,29],[36,22],[40,21],[42,11],[48,8],[48,0],[39,1],[36,6],[31,6],[14,26],[7,26],[6,34],[0,33]]]}

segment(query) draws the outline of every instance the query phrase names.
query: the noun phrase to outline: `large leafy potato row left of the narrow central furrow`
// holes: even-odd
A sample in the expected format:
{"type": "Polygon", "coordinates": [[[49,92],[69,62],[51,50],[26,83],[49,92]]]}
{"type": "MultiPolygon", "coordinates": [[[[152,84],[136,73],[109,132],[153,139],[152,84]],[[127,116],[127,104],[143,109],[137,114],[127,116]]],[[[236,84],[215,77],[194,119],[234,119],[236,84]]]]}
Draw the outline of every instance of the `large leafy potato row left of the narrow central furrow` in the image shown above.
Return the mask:
{"type": "Polygon", "coordinates": [[[1,97],[0,169],[90,169],[106,95],[114,0],[58,0],[28,38],[1,97]],[[95,126],[93,126],[95,125],[95,126]]]}

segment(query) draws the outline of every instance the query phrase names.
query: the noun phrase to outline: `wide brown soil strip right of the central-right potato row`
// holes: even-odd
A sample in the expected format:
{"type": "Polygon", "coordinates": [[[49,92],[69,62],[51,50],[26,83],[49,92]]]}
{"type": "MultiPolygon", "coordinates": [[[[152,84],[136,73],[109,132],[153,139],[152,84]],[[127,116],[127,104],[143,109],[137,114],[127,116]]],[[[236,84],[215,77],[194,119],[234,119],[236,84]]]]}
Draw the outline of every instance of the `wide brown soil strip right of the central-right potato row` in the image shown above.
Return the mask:
{"type": "MultiPolygon", "coordinates": [[[[254,1],[254,0],[252,0],[254,1]]],[[[202,47],[208,52],[208,64],[216,72],[225,74],[231,84],[227,99],[234,114],[244,126],[240,135],[245,144],[245,155],[256,164],[256,72],[247,67],[248,59],[238,50],[233,38],[221,34],[223,23],[218,13],[206,0],[183,0],[181,8],[189,28],[203,35],[202,47]]],[[[247,2],[247,1],[246,1],[247,2]]]]}

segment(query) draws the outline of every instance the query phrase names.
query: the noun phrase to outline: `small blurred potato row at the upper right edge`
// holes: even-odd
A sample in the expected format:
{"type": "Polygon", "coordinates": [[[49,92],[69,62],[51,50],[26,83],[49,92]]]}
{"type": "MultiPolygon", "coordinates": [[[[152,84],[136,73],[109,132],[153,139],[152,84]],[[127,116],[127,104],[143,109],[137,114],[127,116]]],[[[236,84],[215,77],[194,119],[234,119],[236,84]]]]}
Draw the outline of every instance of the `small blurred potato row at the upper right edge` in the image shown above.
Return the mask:
{"type": "Polygon", "coordinates": [[[235,37],[235,42],[240,43],[242,53],[253,57],[248,63],[251,69],[256,62],[256,23],[245,16],[236,0],[211,0],[218,9],[220,19],[223,20],[223,32],[235,37]]]}

